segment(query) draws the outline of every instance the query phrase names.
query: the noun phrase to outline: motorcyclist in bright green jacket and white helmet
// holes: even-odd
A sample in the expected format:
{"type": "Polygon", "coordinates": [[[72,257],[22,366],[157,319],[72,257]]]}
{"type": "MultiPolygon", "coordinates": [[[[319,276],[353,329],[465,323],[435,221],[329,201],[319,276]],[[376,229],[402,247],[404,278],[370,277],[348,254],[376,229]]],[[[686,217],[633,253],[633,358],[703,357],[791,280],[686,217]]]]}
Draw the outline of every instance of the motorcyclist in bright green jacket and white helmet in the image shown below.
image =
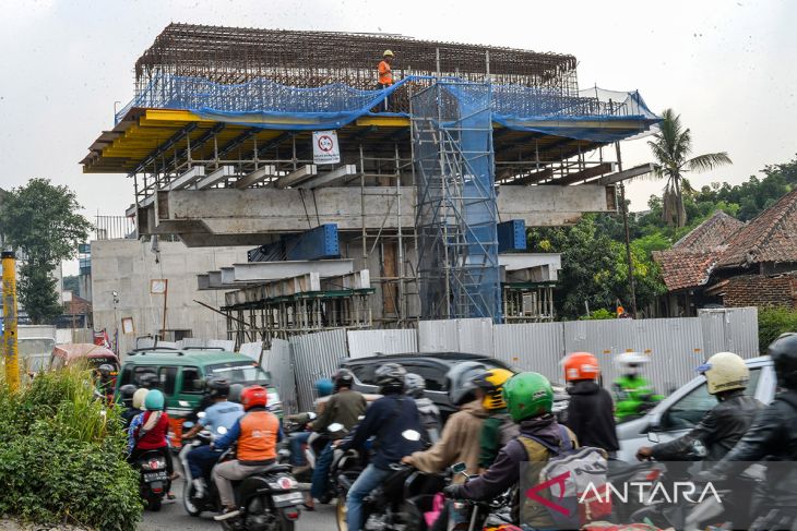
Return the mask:
{"type": "Polygon", "coordinates": [[[643,414],[664,397],[656,395],[653,385],[641,374],[642,366],[651,361],[647,355],[640,352],[623,352],[616,360],[622,375],[612,386],[615,415],[622,422],[643,414]]]}

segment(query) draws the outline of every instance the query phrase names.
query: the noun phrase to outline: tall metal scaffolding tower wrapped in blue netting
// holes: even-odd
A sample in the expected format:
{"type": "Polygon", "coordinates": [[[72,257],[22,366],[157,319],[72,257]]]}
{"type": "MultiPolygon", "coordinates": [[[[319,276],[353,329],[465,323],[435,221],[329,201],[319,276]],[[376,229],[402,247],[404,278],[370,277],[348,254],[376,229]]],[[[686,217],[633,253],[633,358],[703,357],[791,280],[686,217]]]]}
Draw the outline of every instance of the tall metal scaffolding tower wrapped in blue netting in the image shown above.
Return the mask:
{"type": "Polygon", "coordinates": [[[501,319],[490,85],[440,81],[411,100],[421,318],[501,319]]]}

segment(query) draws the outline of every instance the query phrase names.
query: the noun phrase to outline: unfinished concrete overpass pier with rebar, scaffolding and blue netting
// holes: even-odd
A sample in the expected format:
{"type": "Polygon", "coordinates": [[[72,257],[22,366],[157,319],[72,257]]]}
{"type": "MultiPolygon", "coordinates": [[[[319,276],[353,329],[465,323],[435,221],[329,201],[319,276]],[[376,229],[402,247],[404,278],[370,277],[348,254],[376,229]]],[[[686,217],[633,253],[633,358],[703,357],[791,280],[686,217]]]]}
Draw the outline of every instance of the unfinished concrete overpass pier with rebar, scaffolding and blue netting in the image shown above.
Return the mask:
{"type": "MultiPolygon", "coordinates": [[[[237,346],[421,319],[555,319],[526,229],[615,213],[659,118],[560,53],[170,24],[81,161],[130,178],[140,240],[249,246],[197,277],[237,346]],[[394,56],[393,83],[377,64],[394,56]]],[[[210,310],[209,310],[210,311],[210,310]]]]}

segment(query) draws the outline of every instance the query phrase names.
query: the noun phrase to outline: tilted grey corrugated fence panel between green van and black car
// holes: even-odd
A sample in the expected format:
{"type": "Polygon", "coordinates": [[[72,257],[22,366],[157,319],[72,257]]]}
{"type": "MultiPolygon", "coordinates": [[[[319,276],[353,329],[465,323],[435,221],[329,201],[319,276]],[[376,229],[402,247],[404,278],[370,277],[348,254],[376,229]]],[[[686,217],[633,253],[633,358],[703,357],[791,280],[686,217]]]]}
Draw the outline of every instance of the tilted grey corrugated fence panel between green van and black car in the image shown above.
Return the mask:
{"type": "Polygon", "coordinates": [[[310,411],[316,398],[314,383],[318,378],[330,377],[342,359],[348,355],[346,330],[319,331],[290,338],[296,388],[299,408],[310,411]]]}

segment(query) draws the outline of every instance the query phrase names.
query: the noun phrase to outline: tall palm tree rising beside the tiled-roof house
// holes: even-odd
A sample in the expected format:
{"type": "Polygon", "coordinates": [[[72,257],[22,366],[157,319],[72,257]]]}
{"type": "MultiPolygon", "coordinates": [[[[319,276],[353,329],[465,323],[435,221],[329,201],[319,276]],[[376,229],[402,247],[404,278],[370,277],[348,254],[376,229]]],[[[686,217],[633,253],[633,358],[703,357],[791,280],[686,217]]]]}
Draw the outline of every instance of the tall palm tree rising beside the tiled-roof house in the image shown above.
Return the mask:
{"type": "Polygon", "coordinates": [[[653,174],[658,179],[667,179],[663,197],[664,221],[669,226],[683,227],[687,225],[683,194],[692,191],[685,173],[706,171],[733,162],[726,152],[706,153],[688,158],[692,153],[690,130],[683,129],[680,114],[676,114],[673,109],[665,110],[663,118],[658,133],[653,135],[655,140],[647,142],[656,159],[653,174]]]}

